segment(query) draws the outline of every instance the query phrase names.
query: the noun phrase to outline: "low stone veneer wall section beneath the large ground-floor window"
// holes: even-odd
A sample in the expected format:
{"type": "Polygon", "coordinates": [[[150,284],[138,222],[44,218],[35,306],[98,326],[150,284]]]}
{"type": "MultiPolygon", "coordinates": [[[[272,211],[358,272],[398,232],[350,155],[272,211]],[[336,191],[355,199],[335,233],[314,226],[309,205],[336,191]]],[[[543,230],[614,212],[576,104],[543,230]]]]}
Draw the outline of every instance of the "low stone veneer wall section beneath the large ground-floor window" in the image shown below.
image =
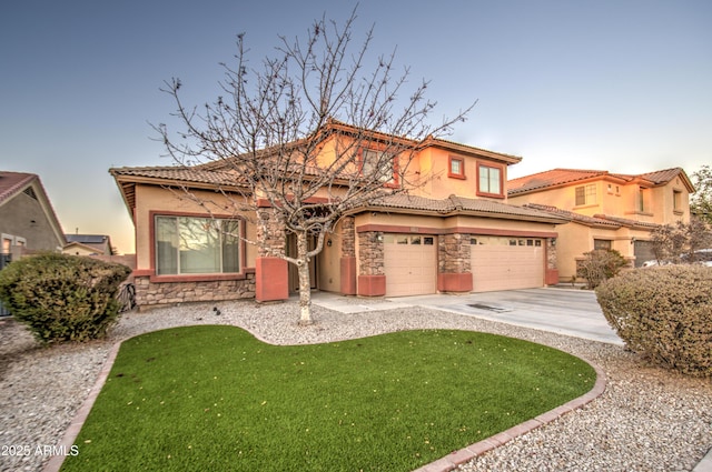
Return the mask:
{"type": "Polygon", "coordinates": [[[209,302],[255,298],[255,274],[243,280],[209,282],[151,282],[148,277],[136,278],[136,302],[139,307],[209,302]]]}

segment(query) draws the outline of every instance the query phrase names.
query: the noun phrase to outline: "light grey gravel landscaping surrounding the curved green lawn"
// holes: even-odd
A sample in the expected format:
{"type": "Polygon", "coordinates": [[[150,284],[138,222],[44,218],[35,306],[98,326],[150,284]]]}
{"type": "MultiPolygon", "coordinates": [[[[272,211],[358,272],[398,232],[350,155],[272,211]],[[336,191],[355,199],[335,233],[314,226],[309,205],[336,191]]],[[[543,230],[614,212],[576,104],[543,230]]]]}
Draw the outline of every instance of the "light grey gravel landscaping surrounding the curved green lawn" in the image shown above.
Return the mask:
{"type": "Polygon", "coordinates": [[[712,446],[712,382],[650,366],[619,345],[423,308],[345,314],[315,305],[316,323],[299,327],[294,301],[219,303],[220,314],[214,307],[125,313],[105,341],[51,349],[38,347],[12,319],[0,320],[0,470],[42,469],[46,446],[61,440],[116,342],[186,324],[233,324],[276,344],[428,328],[484,331],[561,349],[605,372],[606,391],[596,400],[475,458],[462,471],[691,471],[712,446]]]}

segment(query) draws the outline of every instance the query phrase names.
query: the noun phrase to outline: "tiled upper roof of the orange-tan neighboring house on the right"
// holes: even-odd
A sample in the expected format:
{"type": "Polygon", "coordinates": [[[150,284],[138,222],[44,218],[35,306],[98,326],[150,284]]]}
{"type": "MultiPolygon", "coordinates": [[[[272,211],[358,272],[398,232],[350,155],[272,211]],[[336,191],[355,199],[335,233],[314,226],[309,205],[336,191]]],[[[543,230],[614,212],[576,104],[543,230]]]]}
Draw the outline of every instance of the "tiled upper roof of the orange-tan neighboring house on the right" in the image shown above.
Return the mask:
{"type": "Polygon", "coordinates": [[[676,177],[682,178],[689,191],[694,191],[690,179],[681,168],[672,168],[641,174],[611,173],[605,170],[553,169],[507,181],[507,194],[520,195],[534,193],[542,190],[566,187],[574,183],[584,183],[593,180],[611,180],[623,184],[640,181],[641,183],[645,183],[650,187],[656,187],[664,185],[676,177]]]}

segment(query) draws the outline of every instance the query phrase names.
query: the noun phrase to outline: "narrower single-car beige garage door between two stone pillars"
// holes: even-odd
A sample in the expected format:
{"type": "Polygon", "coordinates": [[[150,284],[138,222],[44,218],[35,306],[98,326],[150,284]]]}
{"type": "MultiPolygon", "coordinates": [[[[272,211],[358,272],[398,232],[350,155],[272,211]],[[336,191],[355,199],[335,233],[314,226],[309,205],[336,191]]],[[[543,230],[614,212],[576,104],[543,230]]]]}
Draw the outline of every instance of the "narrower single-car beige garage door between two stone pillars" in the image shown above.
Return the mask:
{"type": "Polygon", "coordinates": [[[437,243],[423,234],[385,234],[386,297],[423,295],[437,288],[437,243]]]}

